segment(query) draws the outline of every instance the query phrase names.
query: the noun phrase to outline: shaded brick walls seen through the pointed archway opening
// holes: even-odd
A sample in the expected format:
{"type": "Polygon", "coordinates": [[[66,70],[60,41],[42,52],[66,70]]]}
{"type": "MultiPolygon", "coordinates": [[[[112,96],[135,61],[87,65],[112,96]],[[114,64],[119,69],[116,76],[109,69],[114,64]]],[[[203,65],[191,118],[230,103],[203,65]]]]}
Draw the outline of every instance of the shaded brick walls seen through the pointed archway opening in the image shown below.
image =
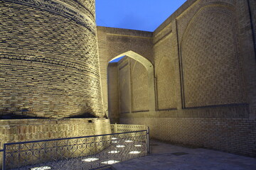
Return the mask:
{"type": "Polygon", "coordinates": [[[109,64],[108,75],[110,118],[119,119],[119,113],[149,111],[148,72],[140,62],[124,57],[109,64]]]}

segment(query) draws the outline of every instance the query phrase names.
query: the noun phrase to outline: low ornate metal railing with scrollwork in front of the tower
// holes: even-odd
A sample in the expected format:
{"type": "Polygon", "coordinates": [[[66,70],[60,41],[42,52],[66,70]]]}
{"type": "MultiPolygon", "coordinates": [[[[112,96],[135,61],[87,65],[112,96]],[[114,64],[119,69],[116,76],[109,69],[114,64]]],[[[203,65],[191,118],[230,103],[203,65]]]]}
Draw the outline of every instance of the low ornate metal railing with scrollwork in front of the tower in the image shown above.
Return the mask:
{"type": "Polygon", "coordinates": [[[98,169],[149,153],[149,130],[4,144],[2,169],[98,169]]]}

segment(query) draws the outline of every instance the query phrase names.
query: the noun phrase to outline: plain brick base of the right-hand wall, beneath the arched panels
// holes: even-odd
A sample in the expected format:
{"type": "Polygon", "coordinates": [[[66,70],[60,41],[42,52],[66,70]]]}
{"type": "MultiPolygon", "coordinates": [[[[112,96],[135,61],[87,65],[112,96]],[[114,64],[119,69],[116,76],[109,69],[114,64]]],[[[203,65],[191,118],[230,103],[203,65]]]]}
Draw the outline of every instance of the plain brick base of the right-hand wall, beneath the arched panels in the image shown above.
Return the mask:
{"type": "Polygon", "coordinates": [[[256,157],[255,120],[122,118],[121,122],[149,126],[151,137],[157,140],[256,157]]]}

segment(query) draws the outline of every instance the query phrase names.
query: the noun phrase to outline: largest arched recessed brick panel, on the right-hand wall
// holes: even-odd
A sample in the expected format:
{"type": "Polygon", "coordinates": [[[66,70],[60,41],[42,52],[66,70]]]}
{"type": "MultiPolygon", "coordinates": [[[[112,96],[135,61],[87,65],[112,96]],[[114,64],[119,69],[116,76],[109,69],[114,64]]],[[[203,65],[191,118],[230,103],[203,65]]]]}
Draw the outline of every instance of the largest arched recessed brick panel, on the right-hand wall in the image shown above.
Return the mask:
{"type": "Polygon", "coordinates": [[[235,19],[224,10],[203,8],[183,36],[186,107],[244,102],[235,19]]]}

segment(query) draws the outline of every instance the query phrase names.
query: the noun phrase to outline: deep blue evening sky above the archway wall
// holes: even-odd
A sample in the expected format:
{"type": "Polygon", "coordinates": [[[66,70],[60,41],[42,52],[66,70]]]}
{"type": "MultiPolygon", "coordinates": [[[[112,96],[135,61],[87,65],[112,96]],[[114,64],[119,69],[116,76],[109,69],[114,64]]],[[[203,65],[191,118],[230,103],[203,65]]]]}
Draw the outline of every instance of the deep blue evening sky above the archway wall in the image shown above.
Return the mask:
{"type": "Polygon", "coordinates": [[[95,0],[97,26],[154,31],[186,0],[95,0]]]}

